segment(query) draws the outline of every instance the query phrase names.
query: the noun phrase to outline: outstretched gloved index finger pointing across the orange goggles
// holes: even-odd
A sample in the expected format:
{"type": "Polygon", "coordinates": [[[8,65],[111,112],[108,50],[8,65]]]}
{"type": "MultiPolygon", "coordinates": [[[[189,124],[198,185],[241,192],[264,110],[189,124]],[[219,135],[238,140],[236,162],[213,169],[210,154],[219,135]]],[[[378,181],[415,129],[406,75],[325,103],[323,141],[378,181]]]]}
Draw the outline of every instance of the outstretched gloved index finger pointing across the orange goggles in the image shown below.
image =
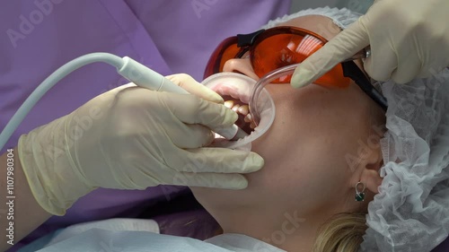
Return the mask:
{"type": "Polygon", "coordinates": [[[300,88],[313,83],[335,65],[356,55],[368,45],[369,39],[364,25],[360,20],[354,22],[347,30],[341,31],[321,49],[307,57],[295,69],[291,85],[294,88],[300,88]]]}

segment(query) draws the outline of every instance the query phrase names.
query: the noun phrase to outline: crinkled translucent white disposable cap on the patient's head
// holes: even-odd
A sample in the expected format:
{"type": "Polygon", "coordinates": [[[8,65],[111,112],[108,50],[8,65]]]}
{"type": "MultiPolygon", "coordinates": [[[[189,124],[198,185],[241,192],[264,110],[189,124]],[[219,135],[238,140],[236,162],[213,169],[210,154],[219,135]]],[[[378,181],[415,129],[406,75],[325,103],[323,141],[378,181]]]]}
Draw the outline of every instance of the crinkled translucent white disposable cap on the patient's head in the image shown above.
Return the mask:
{"type": "MultiPolygon", "coordinates": [[[[269,22],[323,15],[341,29],[348,9],[318,8],[269,22]]],[[[430,251],[449,231],[449,71],[407,84],[382,83],[388,100],[379,194],[368,205],[363,251],[430,251]]]]}

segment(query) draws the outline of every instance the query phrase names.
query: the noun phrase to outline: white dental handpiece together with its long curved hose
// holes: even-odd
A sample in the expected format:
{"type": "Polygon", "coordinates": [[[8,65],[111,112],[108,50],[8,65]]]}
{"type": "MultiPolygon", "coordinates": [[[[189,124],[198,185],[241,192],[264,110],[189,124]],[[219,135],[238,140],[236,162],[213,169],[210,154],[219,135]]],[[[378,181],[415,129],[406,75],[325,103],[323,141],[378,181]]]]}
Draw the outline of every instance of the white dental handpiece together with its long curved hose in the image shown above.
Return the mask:
{"type": "MultiPolygon", "coordinates": [[[[36,103],[47,93],[47,91],[56,85],[66,75],[74,72],[76,69],[95,62],[104,62],[117,68],[117,72],[130,82],[137,86],[144,87],[153,91],[168,91],[174,93],[185,93],[180,86],[172,83],[163,75],[154,72],[145,65],[136,62],[134,59],[124,56],[123,58],[109,53],[92,53],[75,58],[74,60],[62,65],[53,74],[50,74],[40,85],[31,92],[30,96],[23,102],[22,106],[15,112],[11,120],[4,127],[0,134],[0,149],[13,135],[14,130],[22,123],[22,120],[36,105],[36,103]]],[[[233,125],[229,128],[216,130],[216,134],[224,136],[228,140],[240,139],[247,134],[238,126],[233,125]]]]}

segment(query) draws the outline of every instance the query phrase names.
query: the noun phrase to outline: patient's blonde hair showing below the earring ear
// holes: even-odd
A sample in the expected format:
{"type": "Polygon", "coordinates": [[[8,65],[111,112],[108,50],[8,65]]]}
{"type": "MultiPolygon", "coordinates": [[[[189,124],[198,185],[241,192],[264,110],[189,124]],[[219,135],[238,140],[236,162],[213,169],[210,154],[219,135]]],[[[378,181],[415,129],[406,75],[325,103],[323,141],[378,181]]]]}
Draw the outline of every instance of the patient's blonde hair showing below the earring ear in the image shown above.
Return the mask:
{"type": "Polygon", "coordinates": [[[366,213],[339,213],[325,222],[315,239],[313,252],[357,252],[365,235],[366,213]]]}

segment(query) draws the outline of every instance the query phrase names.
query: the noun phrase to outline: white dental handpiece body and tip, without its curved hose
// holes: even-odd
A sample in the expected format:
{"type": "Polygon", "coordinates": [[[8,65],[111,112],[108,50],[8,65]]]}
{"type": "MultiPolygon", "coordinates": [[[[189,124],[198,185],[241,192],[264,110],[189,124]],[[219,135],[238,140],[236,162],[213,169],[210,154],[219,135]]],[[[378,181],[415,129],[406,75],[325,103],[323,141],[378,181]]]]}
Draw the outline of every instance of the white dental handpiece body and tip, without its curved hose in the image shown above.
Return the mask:
{"type": "MultiPolygon", "coordinates": [[[[137,86],[149,90],[189,94],[188,91],[185,91],[177,84],[172,83],[170,80],[163,77],[163,75],[154,72],[128,56],[123,57],[123,65],[121,68],[117,69],[117,72],[137,86]]],[[[215,129],[214,131],[216,134],[225,137],[227,140],[238,140],[248,135],[236,125],[215,129]]]]}

